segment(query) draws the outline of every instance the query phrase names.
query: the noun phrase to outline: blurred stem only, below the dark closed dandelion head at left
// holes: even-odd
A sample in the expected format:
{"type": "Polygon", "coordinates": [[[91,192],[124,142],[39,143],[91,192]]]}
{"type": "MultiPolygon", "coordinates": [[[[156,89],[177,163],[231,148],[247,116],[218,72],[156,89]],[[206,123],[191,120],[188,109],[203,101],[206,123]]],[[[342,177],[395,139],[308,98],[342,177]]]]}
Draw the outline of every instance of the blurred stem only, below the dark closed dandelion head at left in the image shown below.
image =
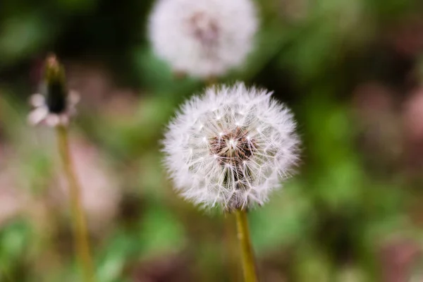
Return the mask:
{"type": "Polygon", "coordinates": [[[73,238],[75,240],[75,252],[80,260],[84,281],[94,282],[94,268],[90,254],[90,243],[87,232],[87,223],[82,209],[82,200],[78,180],[73,171],[71,155],[69,152],[68,130],[66,126],[56,127],[57,145],[63,169],[68,180],[69,195],[71,197],[71,213],[73,216],[73,238]]]}

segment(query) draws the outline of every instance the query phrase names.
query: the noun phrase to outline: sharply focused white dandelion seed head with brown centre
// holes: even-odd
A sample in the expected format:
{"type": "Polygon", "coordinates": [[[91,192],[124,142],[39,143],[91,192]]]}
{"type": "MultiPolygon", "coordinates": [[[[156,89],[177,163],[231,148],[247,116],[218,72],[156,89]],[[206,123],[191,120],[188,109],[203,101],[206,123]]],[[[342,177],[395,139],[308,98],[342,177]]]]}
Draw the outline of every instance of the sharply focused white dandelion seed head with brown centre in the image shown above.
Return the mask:
{"type": "Polygon", "coordinates": [[[293,172],[300,140],[293,114],[266,90],[210,87],[168,125],[165,164],[185,199],[247,209],[293,172]]]}

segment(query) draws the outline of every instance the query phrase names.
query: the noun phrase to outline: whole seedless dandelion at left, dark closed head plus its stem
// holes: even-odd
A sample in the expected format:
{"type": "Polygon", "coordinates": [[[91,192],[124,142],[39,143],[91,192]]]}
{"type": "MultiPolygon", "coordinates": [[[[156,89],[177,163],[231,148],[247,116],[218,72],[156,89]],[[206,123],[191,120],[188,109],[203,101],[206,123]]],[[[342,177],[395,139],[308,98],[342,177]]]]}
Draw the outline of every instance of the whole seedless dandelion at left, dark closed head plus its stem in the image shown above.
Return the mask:
{"type": "Polygon", "coordinates": [[[63,66],[54,54],[46,59],[41,92],[33,94],[30,102],[35,109],[28,116],[32,125],[44,124],[56,129],[57,146],[68,181],[75,252],[80,260],[85,282],[94,282],[94,267],[90,254],[87,223],[82,207],[80,185],[73,170],[68,142],[68,124],[76,112],[79,96],[68,91],[63,66]]]}

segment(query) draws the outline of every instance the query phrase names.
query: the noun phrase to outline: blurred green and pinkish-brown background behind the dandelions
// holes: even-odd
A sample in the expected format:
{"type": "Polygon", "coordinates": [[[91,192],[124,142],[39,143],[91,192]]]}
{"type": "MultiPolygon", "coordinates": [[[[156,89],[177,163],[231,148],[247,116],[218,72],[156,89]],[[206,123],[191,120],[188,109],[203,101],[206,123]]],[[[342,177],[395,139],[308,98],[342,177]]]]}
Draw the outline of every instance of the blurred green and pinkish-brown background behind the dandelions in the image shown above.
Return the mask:
{"type": "MultiPolygon", "coordinates": [[[[423,3],[256,2],[255,49],[220,82],[274,90],[303,140],[298,175],[249,214],[262,281],[423,281],[423,3]]],[[[0,281],[80,281],[54,131],[26,122],[51,51],[82,97],[98,281],[242,281],[232,216],[181,200],[161,166],[166,123],[204,82],[154,56],[152,4],[0,1],[0,281]]]]}

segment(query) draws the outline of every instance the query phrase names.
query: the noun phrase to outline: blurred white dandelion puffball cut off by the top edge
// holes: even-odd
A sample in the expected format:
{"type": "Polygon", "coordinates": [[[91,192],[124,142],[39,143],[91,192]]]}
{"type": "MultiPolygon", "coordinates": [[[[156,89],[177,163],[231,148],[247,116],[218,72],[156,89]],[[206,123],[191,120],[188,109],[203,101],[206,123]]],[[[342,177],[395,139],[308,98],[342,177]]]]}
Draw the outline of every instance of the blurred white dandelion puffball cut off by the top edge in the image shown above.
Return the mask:
{"type": "Polygon", "coordinates": [[[174,71],[211,78],[243,63],[257,25],[251,0],[158,0],[149,37],[174,71]]]}

